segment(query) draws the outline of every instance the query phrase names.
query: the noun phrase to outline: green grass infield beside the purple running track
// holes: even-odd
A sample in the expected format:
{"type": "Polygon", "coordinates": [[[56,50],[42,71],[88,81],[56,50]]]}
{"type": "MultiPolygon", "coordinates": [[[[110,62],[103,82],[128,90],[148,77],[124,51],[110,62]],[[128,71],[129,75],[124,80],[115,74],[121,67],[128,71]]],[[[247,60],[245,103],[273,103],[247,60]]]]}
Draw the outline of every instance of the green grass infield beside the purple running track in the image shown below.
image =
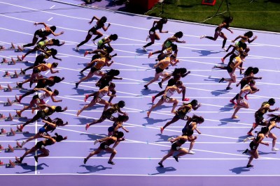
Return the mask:
{"type": "MultiPolygon", "coordinates": [[[[164,13],[160,17],[188,22],[203,22],[208,17],[227,10],[227,0],[217,0],[215,6],[202,5],[202,0],[165,0],[164,13]]],[[[230,15],[234,20],[230,26],[262,31],[280,32],[280,0],[228,0],[230,15]]],[[[158,3],[147,15],[158,17],[162,6],[158,3]]],[[[205,24],[220,24],[228,13],[218,15],[205,24]]]]}

